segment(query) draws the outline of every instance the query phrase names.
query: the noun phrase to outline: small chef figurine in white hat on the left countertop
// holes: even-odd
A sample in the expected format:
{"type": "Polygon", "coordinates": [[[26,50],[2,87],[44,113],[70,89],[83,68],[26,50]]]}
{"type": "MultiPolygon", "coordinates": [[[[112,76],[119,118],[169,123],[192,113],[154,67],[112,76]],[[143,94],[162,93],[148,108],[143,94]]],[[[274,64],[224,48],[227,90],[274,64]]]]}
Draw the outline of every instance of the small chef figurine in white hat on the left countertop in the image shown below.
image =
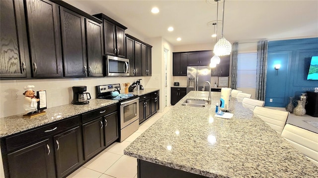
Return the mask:
{"type": "Polygon", "coordinates": [[[37,107],[38,107],[38,101],[40,99],[36,98],[33,91],[34,86],[26,86],[23,89],[25,89],[23,95],[24,101],[23,101],[23,107],[25,110],[25,113],[29,114],[35,114],[38,113],[37,107]]]}

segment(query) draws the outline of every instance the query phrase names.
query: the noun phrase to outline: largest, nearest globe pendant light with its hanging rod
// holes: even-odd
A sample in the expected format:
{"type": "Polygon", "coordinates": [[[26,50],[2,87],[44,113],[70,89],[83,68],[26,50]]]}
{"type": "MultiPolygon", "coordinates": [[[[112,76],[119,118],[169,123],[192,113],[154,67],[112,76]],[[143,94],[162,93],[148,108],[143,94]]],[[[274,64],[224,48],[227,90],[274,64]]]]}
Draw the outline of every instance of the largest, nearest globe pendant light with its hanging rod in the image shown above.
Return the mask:
{"type": "MultiPolygon", "coordinates": [[[[217,1],[217,0],[215,0],[217,1]]],[[[219,0],[218,0],[219,1],[219,0]]],[[[229,41],[227,41],[223,35],[224,30],[224,7],[225,7],[225,0],[223,1],[223,19],[222,19],[222,32],[220,40],[214,45],[214,54],[217,56],[229,55],[232,51],[232,45],[229,41]]]]}

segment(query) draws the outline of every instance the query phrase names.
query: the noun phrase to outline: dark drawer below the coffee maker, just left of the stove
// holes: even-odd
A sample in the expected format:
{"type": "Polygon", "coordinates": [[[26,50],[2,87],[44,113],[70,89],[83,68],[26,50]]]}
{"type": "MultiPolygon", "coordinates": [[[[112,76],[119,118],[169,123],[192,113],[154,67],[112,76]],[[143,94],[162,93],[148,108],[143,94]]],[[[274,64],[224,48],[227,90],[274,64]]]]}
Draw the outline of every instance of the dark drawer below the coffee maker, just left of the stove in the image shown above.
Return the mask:
{"type": "Polygon", "coordinates": [[[104,116],[104,115],[113,113],[115,111],[117,111],[117,104],[112,104],[110,106],[106,106],[106,107],[102,107],[102,108],[99,108],[99,109],[95,109],[93,111],[89,111],[89,112],[87,112],[85,114],[82,114],[81,115],[81,119],[82,119],[82,122],[84,124],[84,123],[86,123],[88,121],[91,121],[94,118],[97,118],[97,117],[100,117],[100,116],[104,116]]]}

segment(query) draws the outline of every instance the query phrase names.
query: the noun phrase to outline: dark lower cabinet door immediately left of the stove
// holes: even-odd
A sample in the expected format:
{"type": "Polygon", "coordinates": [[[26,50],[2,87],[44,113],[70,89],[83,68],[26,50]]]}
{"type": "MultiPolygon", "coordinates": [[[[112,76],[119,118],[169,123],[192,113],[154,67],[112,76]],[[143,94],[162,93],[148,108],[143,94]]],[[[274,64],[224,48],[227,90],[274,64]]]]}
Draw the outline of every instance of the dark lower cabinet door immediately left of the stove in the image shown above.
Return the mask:
{"type": "Polygon", "coordinates": [[[118,113],[114,112],[104,116],[104,132],[105,132],[105,145],[111,145],[119,138],[118,133],[118,113]]]}

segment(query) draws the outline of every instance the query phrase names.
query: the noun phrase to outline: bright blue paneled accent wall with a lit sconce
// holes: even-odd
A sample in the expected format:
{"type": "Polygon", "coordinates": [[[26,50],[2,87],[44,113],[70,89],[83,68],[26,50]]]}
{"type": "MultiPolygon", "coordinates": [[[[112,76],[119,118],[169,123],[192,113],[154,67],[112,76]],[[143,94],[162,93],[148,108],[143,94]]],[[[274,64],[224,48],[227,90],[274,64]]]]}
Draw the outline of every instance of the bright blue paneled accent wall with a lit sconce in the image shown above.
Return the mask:
{"type": "Polygon", "coordinates": [[[265,106],[285,107],[289,97],[313,91],[318,81],[307,80],[312,56],[318,55],[318,38],[268,42],[265,106]],[[279,70],[274,66],[280,64],[279,70]],[[272,102],[270,102],[272,99],[272,102]]]}

